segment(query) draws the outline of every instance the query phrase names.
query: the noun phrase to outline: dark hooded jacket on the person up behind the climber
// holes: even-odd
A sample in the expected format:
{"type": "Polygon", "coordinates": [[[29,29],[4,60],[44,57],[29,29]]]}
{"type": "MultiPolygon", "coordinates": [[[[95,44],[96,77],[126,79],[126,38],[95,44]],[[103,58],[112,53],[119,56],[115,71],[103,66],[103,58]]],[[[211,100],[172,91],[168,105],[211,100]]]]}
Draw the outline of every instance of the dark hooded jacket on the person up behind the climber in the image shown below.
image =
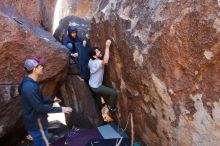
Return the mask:
{"type": "Polygon", "coordinates": [[[70,49],[70,52],[79,53],[78,48],[80,45],[82,45],[83,40],[78,36],[76,36],[76,38],[73,38],[71,36],[71,32],[73,31],[77,32],[77,28],[74,26],[69,26],[68,33],[63,37],[62,44],[67,47],[67,44],[71,43],[73,47],[70,49]]]}

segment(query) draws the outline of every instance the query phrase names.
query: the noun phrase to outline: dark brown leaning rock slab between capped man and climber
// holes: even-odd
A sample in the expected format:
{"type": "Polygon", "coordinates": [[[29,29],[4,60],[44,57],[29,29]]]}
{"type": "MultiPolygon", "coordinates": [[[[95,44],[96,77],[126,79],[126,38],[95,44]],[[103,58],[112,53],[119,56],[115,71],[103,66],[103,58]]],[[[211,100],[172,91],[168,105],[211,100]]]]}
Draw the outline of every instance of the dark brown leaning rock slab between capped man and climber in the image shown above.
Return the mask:
{"type": "Polygon", "coordinates": [[[92,93],[80,76],[68,75],[60,88],[60,94],[65,99],[65,105],[73,108],[73,112],[66,115],[69,126],[91,128],[103,123],[92,93]]]}

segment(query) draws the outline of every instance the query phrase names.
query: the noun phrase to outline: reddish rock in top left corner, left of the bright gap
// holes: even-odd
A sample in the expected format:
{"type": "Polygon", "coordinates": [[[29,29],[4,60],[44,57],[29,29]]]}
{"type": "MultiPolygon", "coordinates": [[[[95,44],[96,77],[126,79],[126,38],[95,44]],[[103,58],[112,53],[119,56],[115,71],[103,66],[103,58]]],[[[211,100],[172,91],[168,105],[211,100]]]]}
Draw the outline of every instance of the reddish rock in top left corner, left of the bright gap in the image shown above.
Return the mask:
{"type": "Polygon", "coordinates": [[[18,14],[33,24],[52,31],[56,0],[1,0],[0,10],[18,14]]]}

